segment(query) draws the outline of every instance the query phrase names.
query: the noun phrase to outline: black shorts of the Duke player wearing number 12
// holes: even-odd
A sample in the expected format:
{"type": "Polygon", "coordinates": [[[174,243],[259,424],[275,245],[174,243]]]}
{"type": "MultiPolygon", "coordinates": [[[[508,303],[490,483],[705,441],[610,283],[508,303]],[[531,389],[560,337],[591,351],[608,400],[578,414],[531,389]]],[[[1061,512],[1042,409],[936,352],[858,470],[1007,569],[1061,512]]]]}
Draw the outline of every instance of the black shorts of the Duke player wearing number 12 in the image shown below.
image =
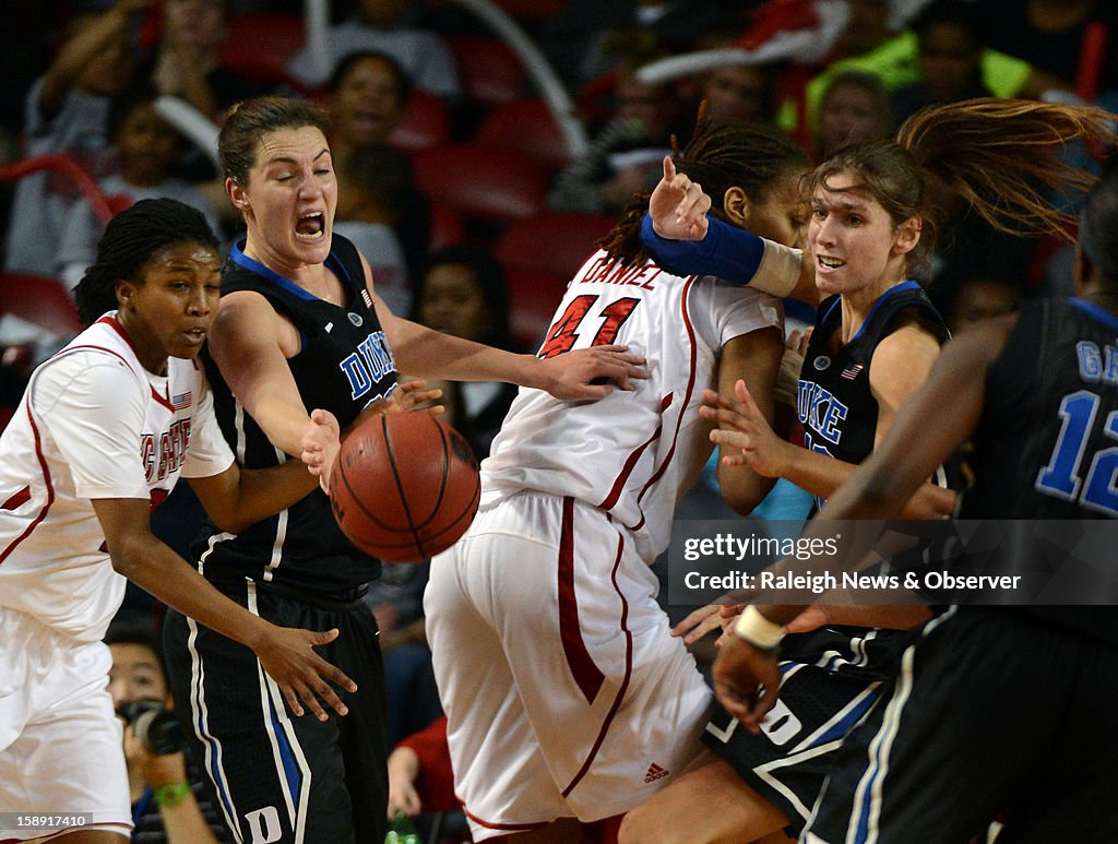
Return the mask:
{"type": "Polygon", "coordinates": [[[1115,646],[949,610],[843,743],[804,841],[965,844],[1002,816],[998,844],[1116,842],[1115,700],[1115,646]]]}

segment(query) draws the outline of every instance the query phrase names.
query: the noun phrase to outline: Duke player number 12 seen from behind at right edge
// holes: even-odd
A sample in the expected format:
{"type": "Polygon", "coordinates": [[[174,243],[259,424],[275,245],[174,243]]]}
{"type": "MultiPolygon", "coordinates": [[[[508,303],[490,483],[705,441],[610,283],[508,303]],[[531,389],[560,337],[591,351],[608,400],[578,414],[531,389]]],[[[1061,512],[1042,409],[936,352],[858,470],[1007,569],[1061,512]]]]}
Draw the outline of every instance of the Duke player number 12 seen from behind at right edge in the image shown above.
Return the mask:
{"type": "MultiPolygon", "coordinates": [[[[1078,297],[1026,302],[950,341],[818,518],[894,518],[967,439],[975,483],[960,518],[1118,516],[1118,379],[1103,366],[1118,359],[1116,230],[1111,163],[1080,215],[1078,297]]],[[[751,607],[719,654],[719,696],[749,729],[774,704],[758,683],[777,687],[780,625],[800,609],[751,607]]],[[[803,841],[955,844],[996,812],[998,841],[1118,840],[1115,607],[951,607],[900,666],[847,737],[803,841]]]]}

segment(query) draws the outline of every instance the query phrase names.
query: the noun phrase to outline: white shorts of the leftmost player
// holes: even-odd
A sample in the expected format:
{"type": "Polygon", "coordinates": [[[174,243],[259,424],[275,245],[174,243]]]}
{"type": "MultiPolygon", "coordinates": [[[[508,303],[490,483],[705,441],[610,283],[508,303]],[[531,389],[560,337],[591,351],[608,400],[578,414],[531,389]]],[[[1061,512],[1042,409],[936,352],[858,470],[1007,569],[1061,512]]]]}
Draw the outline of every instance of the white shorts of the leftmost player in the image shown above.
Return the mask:
{"type": "MultiPolygon", "coordinates": [[[[0,816],[83,815],[82,828],[132,829],[124,733],[108,694],[113,657],[0,607],[0,816]]],[[[9,824],[0,824],[8,826],[9,824]]],[[[0,838],[60,832],[0,828],[0,838]]]]}

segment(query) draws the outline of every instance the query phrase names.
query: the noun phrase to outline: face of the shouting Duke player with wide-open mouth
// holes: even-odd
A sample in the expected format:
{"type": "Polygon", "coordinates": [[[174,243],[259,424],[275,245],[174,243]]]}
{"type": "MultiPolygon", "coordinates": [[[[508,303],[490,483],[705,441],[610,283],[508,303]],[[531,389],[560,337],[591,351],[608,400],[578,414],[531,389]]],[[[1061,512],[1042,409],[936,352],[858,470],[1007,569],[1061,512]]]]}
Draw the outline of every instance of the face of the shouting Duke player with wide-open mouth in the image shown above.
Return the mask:
{"type": "Polygon", "coordinates": [[[248,225],[246,254],[281,274],[322,264],[330,254],[338,183],[330,146],[314,126],[260,140],[248,183],[228,183],[248,225]]]}

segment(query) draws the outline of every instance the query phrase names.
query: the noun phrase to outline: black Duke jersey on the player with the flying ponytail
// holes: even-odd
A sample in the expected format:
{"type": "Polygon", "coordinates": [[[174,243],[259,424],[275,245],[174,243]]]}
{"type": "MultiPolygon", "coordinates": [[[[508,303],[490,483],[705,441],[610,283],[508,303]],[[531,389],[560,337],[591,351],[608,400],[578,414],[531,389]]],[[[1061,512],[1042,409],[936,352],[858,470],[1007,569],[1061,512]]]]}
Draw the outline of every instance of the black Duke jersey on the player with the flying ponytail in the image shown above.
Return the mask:
{"type": "MultiPolygon", "coordinates": [[[[940,342],[947,339],[947,328],[923,290],[904,282],[885,291],[858,333],[834,351],[842,304],[839,296],[819,304],[797,396],[806,448],[846,463],[861,463],[870,455],[878,430],[878,401],[870,390],[873,353],[902,320],[913,316],[940,342]]],[[[816,499],[817,506],[823,503],[816,499]]]]}

